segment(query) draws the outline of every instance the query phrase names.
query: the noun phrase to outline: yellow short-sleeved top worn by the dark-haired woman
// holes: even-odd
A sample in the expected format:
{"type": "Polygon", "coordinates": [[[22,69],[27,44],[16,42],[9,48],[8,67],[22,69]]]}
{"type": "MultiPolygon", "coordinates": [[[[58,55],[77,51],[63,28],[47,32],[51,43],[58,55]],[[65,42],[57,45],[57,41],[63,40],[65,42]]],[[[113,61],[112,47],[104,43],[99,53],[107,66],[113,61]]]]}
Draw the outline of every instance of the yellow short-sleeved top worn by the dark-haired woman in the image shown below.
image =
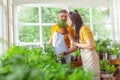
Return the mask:
{"type": "Polygon", "coordinates": [[[86,39],[91,39],[94,42],[92,31],[87,26],[82,26],[80,29],[80,40],[82,44],[86,43],[86,39]]]}

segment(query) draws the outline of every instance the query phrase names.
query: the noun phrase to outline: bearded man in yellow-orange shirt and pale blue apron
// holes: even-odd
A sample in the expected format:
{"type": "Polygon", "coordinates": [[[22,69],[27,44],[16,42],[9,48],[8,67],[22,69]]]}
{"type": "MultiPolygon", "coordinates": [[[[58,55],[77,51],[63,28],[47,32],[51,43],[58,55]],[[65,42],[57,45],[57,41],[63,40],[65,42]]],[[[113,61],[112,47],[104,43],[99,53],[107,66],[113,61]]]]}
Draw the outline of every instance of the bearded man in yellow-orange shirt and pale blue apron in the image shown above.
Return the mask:
{"type": "MultiPolygon", "coordinates": [[[[60,10],[58,13],[58,21],[67,21],[68,12],[64,9],[60,10]]],[[[70,26],[66,26],[66,34],[62,34],[60,32],[60,27],[55,24],[51,28],[51,37],[49,39],[49,43],[52,43],[54,47],[55,54],[57,56],[57,60],[59,60],[59,54],[65,53],[66,50],[70,48],[70,38],[68,37],[68,33],[71,35],[71,38],[74,39],[75,33],[74,30],[70,26]]],[[[70,54],[64,56],[65,63],[71,61],[70,54]]]]}

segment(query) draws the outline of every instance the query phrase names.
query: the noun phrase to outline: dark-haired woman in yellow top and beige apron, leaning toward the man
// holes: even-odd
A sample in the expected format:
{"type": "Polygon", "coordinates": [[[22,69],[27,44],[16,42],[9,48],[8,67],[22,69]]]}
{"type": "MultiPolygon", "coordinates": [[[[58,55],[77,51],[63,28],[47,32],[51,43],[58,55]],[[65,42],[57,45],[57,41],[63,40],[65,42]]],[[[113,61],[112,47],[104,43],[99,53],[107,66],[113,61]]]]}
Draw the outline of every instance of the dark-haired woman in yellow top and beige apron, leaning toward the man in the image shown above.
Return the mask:
{"type": "MultiPolygon", "coordinates": [[[[71,40],[72,45],[80,48],[81,58],[83,63],[84,71],[92,71],[94,74],[93,80],[100,80],[100,68],[99,68],[99,57],[95,51],[94,37],[92,31],[83,24],[82,18],[77,11],[69,12],[69,23],[75,27],[76,41],[71,40]]],[[[62,55],[66,55],[74,51],[65,51],[62,55]]]]}

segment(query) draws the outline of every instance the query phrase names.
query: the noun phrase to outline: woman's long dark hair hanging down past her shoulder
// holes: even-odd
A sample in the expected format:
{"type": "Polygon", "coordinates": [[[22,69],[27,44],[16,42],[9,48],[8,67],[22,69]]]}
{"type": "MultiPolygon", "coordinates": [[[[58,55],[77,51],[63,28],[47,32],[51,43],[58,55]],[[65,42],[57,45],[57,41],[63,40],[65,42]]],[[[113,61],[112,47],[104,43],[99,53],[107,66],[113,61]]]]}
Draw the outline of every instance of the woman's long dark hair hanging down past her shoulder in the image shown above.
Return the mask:
{"type": "Polygon", "coordinates": [[[77,10],[75,10],[74,12],[70,11],[68,16],[70,17],[71,21],[73,22],[75,26],[76,40],[77,42],[79,42],[79,30],[81,26],[83,25],[83,20],[77,10]]]}

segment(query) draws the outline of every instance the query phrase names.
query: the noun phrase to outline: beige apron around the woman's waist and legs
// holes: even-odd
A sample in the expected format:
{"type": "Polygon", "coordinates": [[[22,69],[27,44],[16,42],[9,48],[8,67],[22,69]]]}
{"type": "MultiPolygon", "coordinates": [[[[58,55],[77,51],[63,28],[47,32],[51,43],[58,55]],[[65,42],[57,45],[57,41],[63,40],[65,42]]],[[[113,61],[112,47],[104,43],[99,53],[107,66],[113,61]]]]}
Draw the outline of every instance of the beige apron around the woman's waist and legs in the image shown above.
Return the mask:
{"type": "Polygon", "coordinates": [[[93,72],[93,80],[100,80],[99,57],[94,49],[81,49],[84,71],[93,72]]]}

